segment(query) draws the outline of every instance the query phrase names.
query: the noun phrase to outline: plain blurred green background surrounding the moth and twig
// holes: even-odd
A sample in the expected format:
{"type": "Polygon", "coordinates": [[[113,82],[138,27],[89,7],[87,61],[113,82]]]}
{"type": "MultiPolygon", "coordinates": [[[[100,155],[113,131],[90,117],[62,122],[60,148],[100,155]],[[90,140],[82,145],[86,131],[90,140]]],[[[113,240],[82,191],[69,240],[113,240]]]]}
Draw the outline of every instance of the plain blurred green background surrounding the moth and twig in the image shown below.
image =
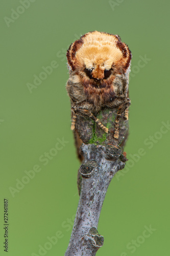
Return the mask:
{"type": "Polygon", "coordinates": [[[37,0],[24,10],[20,5],[16,0],[1,2],[0,254],[6,255],[6,198],[9,256],[42,255],[39,245],[44,247],[56,233],[57,243],[44,255],[64,255],[79,200],[80,165],[70,131],[65,53],[80,35],[98,30],[120,35],[133,58],[125,148],[129,168],[109,186],[98,226],[105,242],[97,255],[169,255],[170,131],[161,130],[162,122],[169,122],[169,2],[117,0],[111,7],[99,0],[37,0]],[[4,17],[11,18],[11,9],[23,13],[8,23],[4,17]],[[144,56],[149,59],[145,63],[139,61],[144,56]],[[27,84],[54,60],[58,67],[31,93],[27,84]],[[62,138],[68,142],[62,150],[48,162],[40,161],[62,138]],[[132,155],[140,148],[143,156],[135,162],[132,155]],[[35,165],[40,172],[12,196],[10,187],[16,189],[16,179],[21,181],[35,165]],[[143,239],[144,226],[150,225],[156,230],[143,239]],[[140,243],[128,249],[132,240],[140,243]]]}

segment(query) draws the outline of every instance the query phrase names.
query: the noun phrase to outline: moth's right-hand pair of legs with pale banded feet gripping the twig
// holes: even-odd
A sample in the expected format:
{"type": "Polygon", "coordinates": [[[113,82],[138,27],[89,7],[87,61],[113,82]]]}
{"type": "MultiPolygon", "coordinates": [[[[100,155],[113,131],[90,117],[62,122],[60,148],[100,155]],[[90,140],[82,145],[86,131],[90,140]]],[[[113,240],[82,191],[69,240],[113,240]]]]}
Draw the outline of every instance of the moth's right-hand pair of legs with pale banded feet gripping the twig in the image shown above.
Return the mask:
{"type": "Polygon", "coordinates": [[[115,119],[115,131],[113,136],[115,139],[118,139],[119,119],[123,112],[124,112],[124,117],[128,120],[129,105],[130,105],[130,99],[127,97],[116,97],[112,102],[109,102],[108,104],[109,108],[118,107],[118,111],[115,119]]]}

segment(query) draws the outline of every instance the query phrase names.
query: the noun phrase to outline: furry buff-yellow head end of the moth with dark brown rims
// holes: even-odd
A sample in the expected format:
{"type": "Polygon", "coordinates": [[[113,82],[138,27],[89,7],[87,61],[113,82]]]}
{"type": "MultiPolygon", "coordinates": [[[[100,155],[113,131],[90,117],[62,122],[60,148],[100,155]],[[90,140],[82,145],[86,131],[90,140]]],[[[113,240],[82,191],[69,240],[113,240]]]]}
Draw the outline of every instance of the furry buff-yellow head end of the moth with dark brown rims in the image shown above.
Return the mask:
{"type": "Polygon", "coordinates": [[[98,31],[81,36],[67,50],[70,71],[94,80],[126,73],[131,58],[129,47],[118,35],[98,31]]]}

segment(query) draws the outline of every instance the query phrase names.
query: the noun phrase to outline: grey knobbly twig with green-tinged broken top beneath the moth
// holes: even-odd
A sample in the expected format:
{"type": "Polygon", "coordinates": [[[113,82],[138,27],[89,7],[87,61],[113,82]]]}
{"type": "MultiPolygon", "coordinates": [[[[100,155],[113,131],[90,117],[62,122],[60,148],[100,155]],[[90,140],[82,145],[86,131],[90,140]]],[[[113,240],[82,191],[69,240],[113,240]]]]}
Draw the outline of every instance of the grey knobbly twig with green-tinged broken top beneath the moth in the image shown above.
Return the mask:
{"type": "Polygon", "coordinates": [[[80,200],[65,256],[95,255],[104,243],[104,237],[97,230],[103,201],[111,179],[127,161],[124,145],[128,121],[122,115],[119,138],[114,139],[116,113],[116,109],[105,109],[97,116],[108,127],[108,134],[89,118],[77,117],[76,131],[83,141],[80,152],[84,160],[79,169],[81,178],[78,178],[80,200]]]}

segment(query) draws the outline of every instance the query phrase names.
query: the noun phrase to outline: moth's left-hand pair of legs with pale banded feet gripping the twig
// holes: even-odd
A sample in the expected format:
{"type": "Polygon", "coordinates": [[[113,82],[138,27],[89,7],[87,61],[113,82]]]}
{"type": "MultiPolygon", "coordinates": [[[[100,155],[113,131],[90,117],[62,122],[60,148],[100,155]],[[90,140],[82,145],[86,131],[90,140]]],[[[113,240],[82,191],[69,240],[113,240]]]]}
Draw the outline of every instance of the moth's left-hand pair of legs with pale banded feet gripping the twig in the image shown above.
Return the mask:
{"type": "Polygon", "coordinates": [[[90,110],[90,105],[85,102],[84,104],[82,103],[78,103],[78,104],[74,104],[72,105],[71,107],[71,110],[74,112],[74,115],[73,115],[73,118],[72,118],[72,124],[71,124],[71,127],[74,128],[75,126],[75,123],[76,123],[76,118],[75,116],[79,115],[79,116],[88,116],[90,117],[96,124],[98,124],[101,129],[103,131],[105,131],[105,133],[108,133],[108,128],[105,127],[100,121],[98,118],[96,118],[89,110],[90,110]]]}

